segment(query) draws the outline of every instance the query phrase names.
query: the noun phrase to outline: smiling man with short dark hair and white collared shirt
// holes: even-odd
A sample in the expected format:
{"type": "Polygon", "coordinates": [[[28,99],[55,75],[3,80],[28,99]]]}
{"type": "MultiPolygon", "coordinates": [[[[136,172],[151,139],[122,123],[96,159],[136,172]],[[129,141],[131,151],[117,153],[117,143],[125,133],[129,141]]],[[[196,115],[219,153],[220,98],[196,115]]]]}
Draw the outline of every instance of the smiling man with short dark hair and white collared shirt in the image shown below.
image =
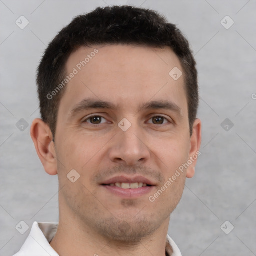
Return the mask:
{"type": "Polygon", "coordinates": [[[58,174],[59,222],[35,221],[15,255],[181,255],[168,224],[201,142],[182,33],[151,10],[97,8],[52,40],[37,85],[31,137],[58,174]]]}

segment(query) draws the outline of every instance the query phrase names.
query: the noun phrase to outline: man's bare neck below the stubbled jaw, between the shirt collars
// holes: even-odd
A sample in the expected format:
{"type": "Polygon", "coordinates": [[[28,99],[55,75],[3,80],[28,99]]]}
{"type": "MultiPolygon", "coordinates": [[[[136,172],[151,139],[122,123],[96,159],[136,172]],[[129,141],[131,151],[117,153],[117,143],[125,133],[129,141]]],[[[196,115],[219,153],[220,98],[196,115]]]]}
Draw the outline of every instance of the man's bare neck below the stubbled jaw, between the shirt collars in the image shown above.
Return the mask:
{"type": "Polygon", "coordinates": [[[58,229],[50,245],[60,256],[164,256],[168,223],[169,218],[140,241],[125,242],[98,234],[77,216],[60,214],[58,229]]]}

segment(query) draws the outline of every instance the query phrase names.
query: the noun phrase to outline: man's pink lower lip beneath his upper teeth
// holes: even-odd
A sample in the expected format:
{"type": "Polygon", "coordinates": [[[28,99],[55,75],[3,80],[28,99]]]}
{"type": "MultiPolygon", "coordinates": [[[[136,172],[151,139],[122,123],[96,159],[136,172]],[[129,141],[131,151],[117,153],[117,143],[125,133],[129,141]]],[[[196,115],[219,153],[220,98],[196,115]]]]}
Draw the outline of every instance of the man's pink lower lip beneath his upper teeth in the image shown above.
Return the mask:
{"type": "Polygon", "coordinates": [[[122,198],[138,198],[144,194],[149,193],[154,186],[142,186],[139,188],[128,188],[124,189],[118,186],[108,186],[108,185],[102,185],[107,189],[109,192],[120,196],[122,198]]]}

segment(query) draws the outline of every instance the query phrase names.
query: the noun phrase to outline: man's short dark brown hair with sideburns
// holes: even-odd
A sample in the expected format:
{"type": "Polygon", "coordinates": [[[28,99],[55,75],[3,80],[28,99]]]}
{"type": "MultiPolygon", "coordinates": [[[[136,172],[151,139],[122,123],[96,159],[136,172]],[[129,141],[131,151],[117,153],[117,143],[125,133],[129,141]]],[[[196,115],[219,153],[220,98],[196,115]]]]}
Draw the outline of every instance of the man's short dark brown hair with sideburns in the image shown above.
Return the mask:
{"type": "Polygon", "coordinates": [[[65,88],[49,99],[66,75],[70,54],[81,46],[101,44],[135,44],[170,47],[178,56],[185,77],[190,135],[198,108],[197,70],[187,39],[162,15],[133,6],[98,7],[75,17],[50,42],[37,68],[40,113],[55,135],[57,112],[65,88]]]}

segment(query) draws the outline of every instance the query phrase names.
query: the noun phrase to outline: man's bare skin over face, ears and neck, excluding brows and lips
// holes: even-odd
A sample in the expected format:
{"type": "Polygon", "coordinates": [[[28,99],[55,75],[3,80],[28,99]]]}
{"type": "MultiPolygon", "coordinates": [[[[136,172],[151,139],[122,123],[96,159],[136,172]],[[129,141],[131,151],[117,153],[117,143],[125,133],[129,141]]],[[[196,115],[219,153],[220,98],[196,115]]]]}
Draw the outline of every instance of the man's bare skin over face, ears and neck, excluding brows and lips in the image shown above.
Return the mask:
{"type": "MultiPolygon", "coordinates": [[[[154,202],[156,193],[201,143],[201,122],[189,134],[183,75],[174,80],[169,72],[178,57],[169,48],[132,45],[81,47],[66,63],[66,73],[87,54],[98,53],[66,85],[58,109],[55,140],[49,126],[37,118],[31,137],[50,175],[59,179],[59,226],[50,245],[65,255],[165,255],[171,212],[177,206],[186,177],[194,175],[196,160],[154,202]],[[83,109],[70,115],[84,99],[104,100],[116,109],[83,109]],[[173,109],[141,109],[148,101],[171,101],[173,109]],[[99,115],[95,125],[86,119],[99,115]],[[155,116],[161,116],[155,122],[155,116]],[[126,118],[131,127],[118,123],[126,118]],[[161,122],[161,120],[164,120],[161,122]],[[67,178],[75,169],[80,178],[67,178]],[[145,176],[154,182],[150,194],[121,198],[100,182],[116,175],[145,176]]],[[[183,72],[184,73],[184,72],[183,72]]]]}

